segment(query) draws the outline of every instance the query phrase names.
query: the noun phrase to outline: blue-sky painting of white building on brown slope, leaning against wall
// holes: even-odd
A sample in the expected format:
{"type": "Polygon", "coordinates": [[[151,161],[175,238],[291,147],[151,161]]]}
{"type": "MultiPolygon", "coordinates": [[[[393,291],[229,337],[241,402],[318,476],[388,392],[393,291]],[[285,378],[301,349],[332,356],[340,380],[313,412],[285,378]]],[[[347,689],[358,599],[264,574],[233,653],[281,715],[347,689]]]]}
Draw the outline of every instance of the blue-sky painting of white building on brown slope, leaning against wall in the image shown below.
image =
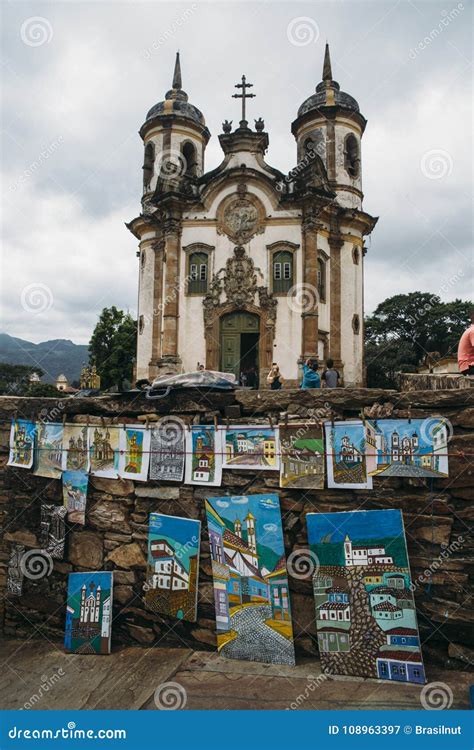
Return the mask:
{"type": "Polygon", "coordinates": [[[150,513],[145,603],[153,612],[195,622],[201,521],[150,513]]]}

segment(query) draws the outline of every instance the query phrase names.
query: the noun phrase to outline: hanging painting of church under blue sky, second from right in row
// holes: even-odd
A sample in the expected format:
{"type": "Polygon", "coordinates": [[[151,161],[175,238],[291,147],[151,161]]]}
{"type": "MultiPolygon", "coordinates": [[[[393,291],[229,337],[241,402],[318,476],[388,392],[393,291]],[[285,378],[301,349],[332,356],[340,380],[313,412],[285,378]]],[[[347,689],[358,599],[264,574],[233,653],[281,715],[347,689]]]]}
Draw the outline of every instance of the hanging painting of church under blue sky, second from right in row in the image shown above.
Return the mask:
{"type": "Polygon", "coordinates": [[[367,475],[364,423],[360,419],[325,422],[328,487],[372,489],[367,475]]]}

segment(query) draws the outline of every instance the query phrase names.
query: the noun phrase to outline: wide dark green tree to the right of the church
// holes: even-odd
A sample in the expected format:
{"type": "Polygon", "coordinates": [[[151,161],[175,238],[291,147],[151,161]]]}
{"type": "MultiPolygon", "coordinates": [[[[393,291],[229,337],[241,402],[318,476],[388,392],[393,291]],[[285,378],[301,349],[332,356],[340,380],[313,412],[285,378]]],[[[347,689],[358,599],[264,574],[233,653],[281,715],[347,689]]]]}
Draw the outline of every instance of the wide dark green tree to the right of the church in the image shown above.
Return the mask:
{"type": "Polygon", "coordinates": [[[369,387],[395,387],[395,374],[414,372],[428,352],[454,354],[471,308],[471,302],[442,302],[427,292],[396,294],[382,302],[365,320],[369,387]]]}

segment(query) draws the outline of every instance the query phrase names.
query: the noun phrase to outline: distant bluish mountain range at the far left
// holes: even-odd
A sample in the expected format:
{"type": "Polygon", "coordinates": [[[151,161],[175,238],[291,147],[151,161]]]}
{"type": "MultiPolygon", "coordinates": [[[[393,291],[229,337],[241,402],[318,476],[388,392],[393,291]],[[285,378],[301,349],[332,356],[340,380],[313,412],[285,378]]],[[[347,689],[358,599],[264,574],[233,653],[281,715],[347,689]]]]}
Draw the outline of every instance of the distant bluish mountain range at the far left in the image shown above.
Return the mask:
{"type": "Polygon", "coordinates": [[[58,375],[65,375],[69,383],[79,380],[81,368],[88,359],[86,344],[74,344],[69,339],[52,339],[33,344],[31,341],[0,333],[0,362],[38,367],[44,372],[41,378],[44,383],[54,383],[58,375]]]}

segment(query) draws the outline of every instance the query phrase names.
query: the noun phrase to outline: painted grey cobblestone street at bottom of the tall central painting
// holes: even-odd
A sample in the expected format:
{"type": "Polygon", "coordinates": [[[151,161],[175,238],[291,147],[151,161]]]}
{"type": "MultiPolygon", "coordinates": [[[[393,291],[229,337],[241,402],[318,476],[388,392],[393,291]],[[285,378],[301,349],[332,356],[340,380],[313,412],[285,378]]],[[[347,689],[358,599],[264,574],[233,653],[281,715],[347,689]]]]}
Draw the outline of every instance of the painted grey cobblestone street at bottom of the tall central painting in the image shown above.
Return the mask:
{"type": "Polygon", "coordinates": [[[294,664],[293,643],[264,623],[271,616],[272,608],[265,605],[244,607],[233,614],[230,627],[238,635],[233,641],[226,643],[220,653],[231,659],[294,664]]]}

